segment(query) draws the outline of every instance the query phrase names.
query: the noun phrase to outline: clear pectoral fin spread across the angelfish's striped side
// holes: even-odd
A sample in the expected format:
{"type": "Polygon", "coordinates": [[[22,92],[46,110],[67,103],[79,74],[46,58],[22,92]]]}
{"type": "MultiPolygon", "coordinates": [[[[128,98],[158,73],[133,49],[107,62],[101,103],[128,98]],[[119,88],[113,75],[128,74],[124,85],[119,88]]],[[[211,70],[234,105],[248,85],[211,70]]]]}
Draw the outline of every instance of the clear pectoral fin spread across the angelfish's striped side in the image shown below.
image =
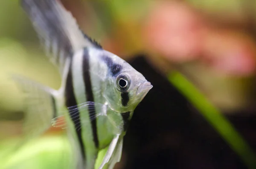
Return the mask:
{"type": "MultiPolygon", "coordinates": [[[[53,127],[61,127],[62,129],[67,128],[65,114],[72,113],[71,117],[76,118],[76,117],[79,117],[79,111],[83,111],[83,110],[88,111],[89,114],[90,114],[90,112],[95,111],[95,115],[91,116],[90,120],[94,120],[97,117],[102,116],[102,115],[107,115],[106,114],[106,112],[107,112],[106,105],[89,101],[89,102],[81,103],[77,106],[68,107],[68,110],[66,112],[64,112],[64,111],[58,112],[63,115],[53,118],[51,120],[52,126],[53,127]]],[[[81,127],[81,124],[85,123],[85,121],[83,121],[83,119],[79,119],[79,120],[80,120],[80,123],[77,121],[79,123],[78,127],[81,127]]]]}

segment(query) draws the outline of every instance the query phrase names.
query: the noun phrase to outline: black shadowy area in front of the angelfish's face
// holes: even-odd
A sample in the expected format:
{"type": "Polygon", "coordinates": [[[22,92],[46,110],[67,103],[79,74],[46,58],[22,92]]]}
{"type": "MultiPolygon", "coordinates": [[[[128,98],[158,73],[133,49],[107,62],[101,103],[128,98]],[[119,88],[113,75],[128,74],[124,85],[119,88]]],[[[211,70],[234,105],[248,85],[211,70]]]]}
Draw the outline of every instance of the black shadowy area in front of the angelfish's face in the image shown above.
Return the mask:
{"type": "MultiPolygon", "coordinates": [[[[125,169],[247,169],[200,112],[143,55],[129,63],[154,87],[135,109],[125,136],[125,169]]],[[[228,119],[256,150],[256,116],[238,112],[228,119]]]]}

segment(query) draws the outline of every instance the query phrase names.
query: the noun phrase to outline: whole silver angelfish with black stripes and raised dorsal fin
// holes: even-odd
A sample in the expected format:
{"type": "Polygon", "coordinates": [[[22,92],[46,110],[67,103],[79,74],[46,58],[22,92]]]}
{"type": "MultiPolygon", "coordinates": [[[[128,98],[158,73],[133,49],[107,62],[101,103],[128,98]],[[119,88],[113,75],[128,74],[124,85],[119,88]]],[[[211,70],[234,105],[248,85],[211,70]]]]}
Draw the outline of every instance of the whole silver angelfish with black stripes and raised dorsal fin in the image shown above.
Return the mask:
{"type": "Polygon", "coordinates": [[[15,77],[28,103],[23,132],[41,135],[64,119],[77,150],[76,168],[94,169],[99,151],[108,147],[99,168],[112,169],[134,109],[153,86],[84,34],[59,0],[21,0],[21,5],[62,79],[55,90],[15,77]]]}

